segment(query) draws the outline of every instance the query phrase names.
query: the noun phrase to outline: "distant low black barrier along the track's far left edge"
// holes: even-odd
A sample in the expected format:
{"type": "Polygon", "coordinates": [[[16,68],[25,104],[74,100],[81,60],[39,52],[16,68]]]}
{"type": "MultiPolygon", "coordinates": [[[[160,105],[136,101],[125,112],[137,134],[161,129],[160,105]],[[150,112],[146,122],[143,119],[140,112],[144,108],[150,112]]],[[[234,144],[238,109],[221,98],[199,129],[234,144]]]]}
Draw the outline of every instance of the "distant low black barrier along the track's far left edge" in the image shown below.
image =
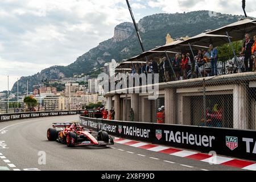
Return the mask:
{"type": "Polygon", "coordinates": [[[14,121],[18,119],[29,119],[29,118],[40,118],[40,117],[52,117],[60,115],[74,115],[82,114],[83,110],[73,110],[73,111],[43,111],[34,113],[10,113],[10,114],[0,114],[0,122],[14,121]]]}

